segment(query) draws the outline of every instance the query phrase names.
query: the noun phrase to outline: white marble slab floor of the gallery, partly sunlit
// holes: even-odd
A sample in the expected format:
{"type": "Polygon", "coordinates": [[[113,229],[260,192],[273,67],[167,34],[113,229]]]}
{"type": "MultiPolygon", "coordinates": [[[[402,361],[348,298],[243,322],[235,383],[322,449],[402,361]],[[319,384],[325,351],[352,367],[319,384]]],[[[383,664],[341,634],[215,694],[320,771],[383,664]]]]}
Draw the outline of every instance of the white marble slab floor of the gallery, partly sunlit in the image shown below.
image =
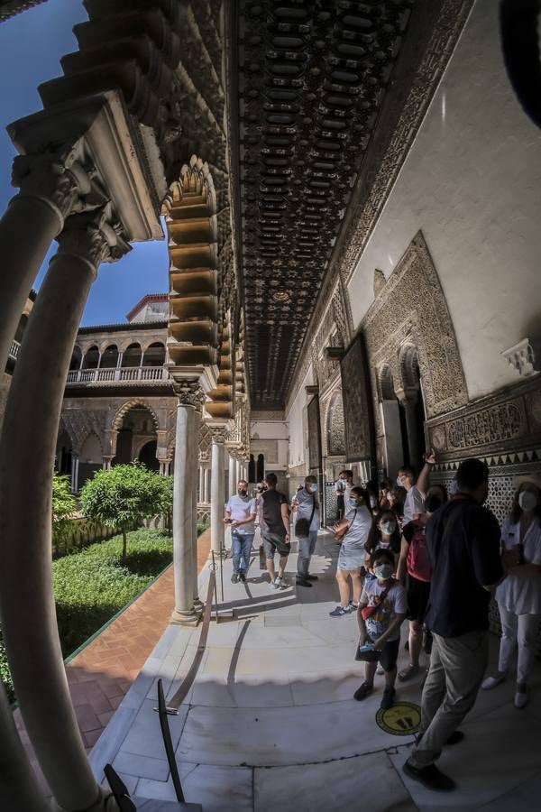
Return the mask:
{"type": "MultiPolygon", "coordinates": [[[[293,546],[293,550],[296,546],[293,546]]],[[[311,589],[277,592],[252,558],[248,582],[230,582],[225,561],[225,607],[234,617],[213,621],[197,678],[178,716],[173,744],[188,801],[205,812],[371,812],[483,809],[522,812],[541,789],[541,669],[536,666],[527,710],[512,705],[509,682],[481,693],[463,724],[465,741],[446,750],[440,766],[458,789],[437,794],[407,780],[401,765],[411,737],[384,733],[375,723],[377,689],[353,700],[362,682],[353,661],[353,615],[330,618],[335,606],[334,540],[321,532],[311,589]]],[[[297,556],[289,557],[294,584],[297,556]]],[[[201,577],[206,595],[208,572],[201,577]]],[[[405,624],[406,627],[407,624],[405,624]]],[[[406,633],[406,628],[404,628],[406,633]]],[[[170,626],[91,753],[96,776],[112,761],[139,798],[173,799],[156,705],[156,680],[172,697],[188,673],[200,629],[170,626]]],[[[492,645],[495,658],[498,641],[492,645]]],[[[407,654],[401,651],[401,661],[407,654]]],[[[417,702],[419,680],[398,685],[398,698],[417,702]]]]}

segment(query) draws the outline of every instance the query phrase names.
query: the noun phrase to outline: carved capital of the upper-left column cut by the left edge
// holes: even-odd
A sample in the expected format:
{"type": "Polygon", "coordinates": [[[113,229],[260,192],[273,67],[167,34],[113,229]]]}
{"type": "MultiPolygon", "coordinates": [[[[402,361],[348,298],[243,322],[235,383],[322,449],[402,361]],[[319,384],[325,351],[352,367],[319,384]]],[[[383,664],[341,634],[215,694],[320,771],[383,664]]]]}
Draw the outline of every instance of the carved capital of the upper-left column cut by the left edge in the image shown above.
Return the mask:
{"type": "Polygon", "coordinates": [[[37,198],[64,220],[74,211],[82,211],[82,198],[92,190],[94,171],[83,166],[83,142],[61,145],[39,154],[17,155],[12,168],[12,186],[19,187],[17,198],[37,198]]]}

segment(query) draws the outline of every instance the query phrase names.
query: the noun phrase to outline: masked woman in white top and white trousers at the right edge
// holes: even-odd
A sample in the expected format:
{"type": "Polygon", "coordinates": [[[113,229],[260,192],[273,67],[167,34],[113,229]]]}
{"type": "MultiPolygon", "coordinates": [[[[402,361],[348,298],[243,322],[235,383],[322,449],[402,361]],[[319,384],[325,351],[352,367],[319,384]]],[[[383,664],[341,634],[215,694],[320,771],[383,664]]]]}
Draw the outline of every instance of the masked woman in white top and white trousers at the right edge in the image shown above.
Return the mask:
{"type": "Polygon", "coordinates": [[[521,476],[515,484],[513,507],[501,531],[508,577],[495,595],[501,619],[500,662],[496,676],[487,677],[482,687],[500,685],[518,641],[515,706],[522,708],[541,621],[541,476],[521,476]]]}

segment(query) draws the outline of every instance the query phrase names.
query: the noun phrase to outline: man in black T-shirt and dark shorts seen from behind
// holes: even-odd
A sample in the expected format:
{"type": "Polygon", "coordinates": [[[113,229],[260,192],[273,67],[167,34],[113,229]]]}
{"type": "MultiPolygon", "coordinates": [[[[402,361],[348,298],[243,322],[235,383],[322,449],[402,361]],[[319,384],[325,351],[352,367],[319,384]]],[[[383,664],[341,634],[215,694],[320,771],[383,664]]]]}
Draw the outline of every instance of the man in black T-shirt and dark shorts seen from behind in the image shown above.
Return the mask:
{"type": "Polygon", "coordinates": [[[290,552],[289,504],[286,496],[276,490],[278,483],[276,474],[267,474],[265,483],[267,490],[261,494],[259,507],[265,561],[271,586],[274,589],[284,589],[289,586],[284,577],[290,552]],[[278,575],[274,569],[275,553],[280,556],[278,575]]]}

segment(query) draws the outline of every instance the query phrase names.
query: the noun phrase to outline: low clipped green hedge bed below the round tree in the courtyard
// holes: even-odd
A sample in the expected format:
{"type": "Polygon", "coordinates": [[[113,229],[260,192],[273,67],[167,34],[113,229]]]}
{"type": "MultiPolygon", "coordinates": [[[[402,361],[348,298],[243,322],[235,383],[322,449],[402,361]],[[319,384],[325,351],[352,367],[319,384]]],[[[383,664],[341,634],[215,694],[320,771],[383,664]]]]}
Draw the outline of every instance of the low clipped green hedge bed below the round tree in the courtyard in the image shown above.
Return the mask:
{"type": "MultiPolygon", "coordinates": [[[[133,601],[172,560],[173,545],[161,531],[128,533],[121,564],[122,536],[53,561],[54,595],[64,657],[133,601]]],[[[13,684],[0,637],[0,678],[10,699],[13,684]]]]}

